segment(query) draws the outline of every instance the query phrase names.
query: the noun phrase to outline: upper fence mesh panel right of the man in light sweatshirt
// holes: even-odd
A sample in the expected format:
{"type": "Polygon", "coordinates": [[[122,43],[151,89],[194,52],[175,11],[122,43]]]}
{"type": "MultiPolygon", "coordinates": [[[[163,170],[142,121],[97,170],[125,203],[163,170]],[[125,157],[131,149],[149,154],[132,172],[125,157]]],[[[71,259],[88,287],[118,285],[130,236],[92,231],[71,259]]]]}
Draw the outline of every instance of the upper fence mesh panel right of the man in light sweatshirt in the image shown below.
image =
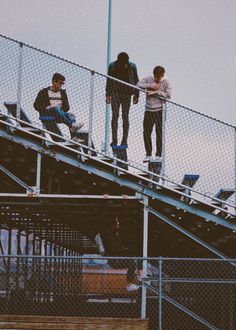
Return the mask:
{"type": "Polygon", "coordinates": [[[196,189],[216,194],[234,189],[235,128],[169,102],[166,120],[166,175],[200,176],[196,189]]]}

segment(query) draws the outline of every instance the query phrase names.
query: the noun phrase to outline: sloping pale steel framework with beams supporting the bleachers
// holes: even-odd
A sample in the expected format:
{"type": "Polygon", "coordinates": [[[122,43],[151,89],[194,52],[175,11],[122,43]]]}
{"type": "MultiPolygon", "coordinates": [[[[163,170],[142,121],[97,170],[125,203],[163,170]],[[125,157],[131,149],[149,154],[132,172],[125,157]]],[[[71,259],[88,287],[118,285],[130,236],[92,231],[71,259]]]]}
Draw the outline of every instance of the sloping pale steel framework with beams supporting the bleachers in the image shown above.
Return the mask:
{"type": "MultiPolygon", "coordinates": [[[[5,116],[8,119],[14,119],[10,116],[5,116]]],[[[21,120],[18,120],[21,123],[21,120]]],[[[35,199],[108,199],[108,200],[137,200],[141,201],[145,205],[145,216],[144,223],[144,251],[143,255],[147,256],[147,217],[148,212],[151,211],[155,216],[161,217],[161,214],[158,211],[153,209],[149,209],[147,206],[148,200],[156,200],[160,203],[168,205],[176,210],[182,210],[182,212],[186,214],[193,215],[198,217],[199,219],[211,221],[215,224],[219,224],[225,228],[228,228],[232,231],[236,230],[236,224],[232,221],[235,220],[234,214],[230,212],[226,208],[222,208],[218,205],[212,205],[210,202],[205,202],[203,200],[197,200],[196,197],[190,196],[188,192],[193,189],[189,187],[185,187],[186,190],[178,190],[171,188],[163,183],[164,179],[156,175],[156,178],[152,179],[142,176],[143,174],[139,172],[132,172],[130,170],[125,170],[120,168],[117,163],[114,164],[114,159],[110,159],[109,157],[104,157],[103,154],[100,156],[92,156],[91,153],[96,151],[91,147],[82,146],[78,143],[73,143],[72,145],[65,145],[54,141],[49,141],[44,135],[34,133],[31,130],[27,130],[27,128],[22,128],[20,126],[16,127],[12,122],[8,122],[5,120],[0,120],[1,130],[0,136],[8,141],[12,141],[19,145],[24,146],[26,149],[31,149],[36,152],[37,158],[35,163],[35,186],[30,186],[23,182],[19,177],[17,177],[14,173],[9,171],[3,165],[1,165],[0,170],[4,172],[10,179],[14,180],[17,184],[23,187],[26,192],[25,193],[1,193],[0,197],[3,203],[6,203],[7,198],[14,198],[14,202],[19,198],[24,202],[29,200],[29,197],[34,197],[35,199]],[[8,129],[12,128],[13,131],[9,134],[8,129]],[[88,150],[87,153],[84,153],[85,150],[88,150]],[[97,177],[103,178],[107,182],[113,182],[118,184],[121,187],[128,188],[130,190],[130,195],[109,195],[109,194],[44,194],[41,193],[41,176],[42,176],[42,157],[49,156],[50,158],[56,159],[57,161],[61,161],[64,164],[69,164],[72,167],[80,169],[86,173],[94,174],[97,177]],[[111,162],[112,161],[112,162],[111,162]],[[158,178],[158,180],[156,180],[158,178]],[[162,182],[161,182],[162,181],[162,182]],[[131,192],[135,192],[134,195],[131,192]],[[186,202],[187,201],[187,202],[186,202]],[[197,204],[197,207],[196,207],[197,204]],[[217,212],[218,213],[217,213],[217,212]],[[219,216],[221,214],[221,216],[219,216]],[[224,214],[224,217],[222,217],[224,214]],[[234,218],[233,218],[234,217],[234,218]]],[[[25,123],[26,124],[26,123],[25,123]]],[[[27,123],[28,124],[28,123],[27,123]]],[[[33,126],[29,124],[29,126],[33,126]]],[[[45,131],[42,129],[42,132],[45,131]]],[[[55,135],[55,134],[53,134],[55,135]]],[[[66,140],[66,139],[65,139],[66,140]]],[[[71,143],[71,141],[68,141],[71,143]]],[[[97,152],[97,151],[96,151],[97,152]]],[[[122,163],[122,161],[120,161],[122,163]]],[[[130,165],[130,164],[129,164],[130,165]]],[[[131,166],[132,168],[133,166],[131,166]]],[[[166,179],[165,179],[166,181],[166,179]]],[[[177,185],[177,187],[181,187],[183,185],[177,185]]],[[[213,198],[215,200],[215,198],[213,198]]],[[[227,204],[227,203],[225,203],[227,204]]],[[[165,218],[168,219],[168,218],[165,218]]],[[[169,219],[170,220],[170,219],[169,219]]],[[[170,222],[169,222],[170,223],[170,222]]],[[[175,226],[175,229],[178,229],[178,226],[175,226]]],[[[194,239],[199,244],[202,244],[202,240],[198,239],[198,237],[194,237],[193,235],[188,235],[192,239],[194,239]]],[[[203,244],[204,245],[204,244],[203,244]]],[[[218,256],[221,256],[221,253],[217,252],[215,249],[211,249],[208,244],[204,245],[205,248],[209,249],[211,252],[215,253],[218,256]]],[[[222,257],[224,255],[222,254],[222,257]]]]}

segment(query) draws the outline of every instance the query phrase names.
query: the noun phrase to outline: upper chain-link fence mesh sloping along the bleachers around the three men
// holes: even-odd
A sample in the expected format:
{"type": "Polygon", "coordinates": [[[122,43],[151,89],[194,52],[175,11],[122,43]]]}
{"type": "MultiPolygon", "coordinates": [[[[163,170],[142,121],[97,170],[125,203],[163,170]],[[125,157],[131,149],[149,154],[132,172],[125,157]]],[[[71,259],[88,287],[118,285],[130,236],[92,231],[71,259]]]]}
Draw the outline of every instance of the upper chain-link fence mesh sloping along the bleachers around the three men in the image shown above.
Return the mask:
{"type": "MultiPolygon", "coordinates": [[[[52,75],[60,72],[66,77],[70,110],[78,121],[84,122],[84,129],[89,130],[95,149],[103,152],[107,141],[110,145],[110,106],[109,113],[106,114],[105,110],[107,76],[4,36],[0,36],[0,50],[2,112],[6,111],[4,102],[18,101],[32,122],[41,127],[33,103],[39,90],[51,85],[52,75]]],[[[124,86],[116,82],[113,91],[121,91],[125,98],[130,89],[124,86]]],[[[140,91],[139,103],[133,105],[131,100],[129,111],[128,160],[131,167],[135,165],[141,170],[147,170],[143,165],[145,97],[146,94],[140,91]]],[[[210,196],[221,188],[235,189],[236,128],[171,101],[166,102],[165,108],[164,177],[181,183],[185,174],[197,174],[200,177],[196,190],[210,196]]],[[[120,113],[118,144],[122,140],[122,125],[120,113]]],[[[65,125],[63,133],[70,136],[65,125]]],[[[113,156],[110,146],[108,155],[113,156]]],[[[233,197],[229,203],[234,204],[233,197]]]]}

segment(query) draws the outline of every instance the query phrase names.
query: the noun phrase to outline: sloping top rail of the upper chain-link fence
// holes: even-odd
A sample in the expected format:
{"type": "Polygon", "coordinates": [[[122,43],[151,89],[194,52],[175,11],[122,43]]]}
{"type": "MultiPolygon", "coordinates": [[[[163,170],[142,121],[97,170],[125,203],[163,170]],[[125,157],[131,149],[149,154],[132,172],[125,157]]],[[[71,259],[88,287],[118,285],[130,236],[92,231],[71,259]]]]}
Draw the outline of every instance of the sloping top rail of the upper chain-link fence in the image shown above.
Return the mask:
{"type": "MultiPolygon", "coordinates": [[[[26,44],[26,43],[24,43],[24,42],[22,42],[22,41],[15,40],[15,39],[13,39],[13,38],[10,38],[10,37],[7,37],[7,36],[4,36],[4,35],[2,35],[2,34],[0,34],[0,37],[2,37],[2,38],[4,38],[4,39],[7,39],[7,40],[9,40],[9,41],[12,41],[12,42],[18,43],[19,45],[24,45],[25,47],[28,47],[28,48],[33,49],[33,50],[36,50],[36,51],[38,51],[38,52],[40,52],[40,53],[43,53],[43,54],[45,54],[45,55],[48,55],[48,56],[51,56],[51,57],[57,58],[57,59],[59,59],[59,60],[61,60],[61,61],[64,61],[64,62],[66,62],[66,63],[72,64],[72,65],[75,65],[75,66],[77,66],[77,67],[79,67],[79,68],[81,68],[81,69],[84,69],[84,70],[90,71],[92,74],[96,73],[97,75],[102,76],[102,77],[104,77],[104,78],[109,78],[109,79],[112,79],[112,80],[114,80],[114,81],[118,81],[118,82],[122,83],[123,85],[127,85],[127,86],[129,86],[129,87],[132,87],[132,88],[134,88],[134,89],[139,90],[139,91],[142,92],[142,93],[145,93],[144,90],[142,90],[142,89],[140,89],[140,88],[138,88],[138,87],[136,87],[136,86],[134,86],[134,85],[131,85],[131,84],[129,84],[129,83],[126,83],[126,82],[121,81],[121,80],[119,80],[119,79],[116,79],[116,78],[114,78],[114,77],[110,77],[110,76],[108,76],[108,75],[106,75],[106,74],[103,74],[103,73],[100,73],[100,72],[98,72],[98,71],[96,71],[96,70],[89,69],[89,68],[87,68],[87,67],[85,67],[85,66],[83,66],[83,65],[80,65],[80,64],[78,64],[78,63],[72,62],[72,61],[67,60],[67,59],[64,59],[63,57],[60,57],[60,56],[58,56],[58,55],[55,55],[55,54],[49,53],[49,52],[44,51],[44,50],[42,50],[42,49],[40,49],[40,48],[37,48],[37,47],[31,46],[31,45],[26,44]]],[[[160,99],[162,99],[162,97],[160,97],[160,99]]],[[[164,99],[163,99],[163,100],[164,100],[164,99]]],[[[231,128],[236,129],[236,126],[234,126],[234,125],[232,125],[232,124],[226,123],[226,122],[224,122],[224,121],[222,121],[222,120],[219,120],[219,119],[217,119],[217,118],[214,118],[214,117],[211,117],[211,116],[209,116],[209,115],[203,114],[203,113],[201,113],[201,112],[199,112],[199,111],[193,110],[193,109],[191,109],[191,108],[189,108],[189,107],[186,107],[186,106],[183,106],[183,105],[181,105],[181,104],[179,104],[179,103],[176,103],[176,102],[173,102],[173,101],[170,101],[170,100],[166,100],[166,99],[165,99],[165,101],[166,101],[167,103],[169,103],[169,104],[172,104],[172,105],[178,106],[178,107],[180,107],[180,108],[182,108],[182,109],[184,109],[184,110],[188,110],[188,111],[190,111],[190,112],[192,112],[192,113],[195,113],[195,114],[201,115],[201,116],[203,116],[203,117],[205,117],[205,118],[212,119],[212,120],[217,121],[217,122],[219,122],[219,123],[221,123],[221,124],[223,124],[223,125],[226,125],[226,126],[229,126],[229,127],[231,127],[231,128]]]]}

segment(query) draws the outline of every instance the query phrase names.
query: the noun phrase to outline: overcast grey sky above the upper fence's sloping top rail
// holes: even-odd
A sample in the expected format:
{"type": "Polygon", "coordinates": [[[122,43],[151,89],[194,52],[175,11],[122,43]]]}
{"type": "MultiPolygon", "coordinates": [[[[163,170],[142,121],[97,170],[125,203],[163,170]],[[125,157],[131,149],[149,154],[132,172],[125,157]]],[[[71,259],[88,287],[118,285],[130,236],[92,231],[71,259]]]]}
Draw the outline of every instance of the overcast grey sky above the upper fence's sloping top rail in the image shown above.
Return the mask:
{"type": "MultiPolygon", "coordinates": [[[[172,100],[236,125],[236,1],[112,0],[111,61],[162,65],[172,100]]],[[[0,0],[0,33],[106,73],[108,0],[0,0]]]]}

